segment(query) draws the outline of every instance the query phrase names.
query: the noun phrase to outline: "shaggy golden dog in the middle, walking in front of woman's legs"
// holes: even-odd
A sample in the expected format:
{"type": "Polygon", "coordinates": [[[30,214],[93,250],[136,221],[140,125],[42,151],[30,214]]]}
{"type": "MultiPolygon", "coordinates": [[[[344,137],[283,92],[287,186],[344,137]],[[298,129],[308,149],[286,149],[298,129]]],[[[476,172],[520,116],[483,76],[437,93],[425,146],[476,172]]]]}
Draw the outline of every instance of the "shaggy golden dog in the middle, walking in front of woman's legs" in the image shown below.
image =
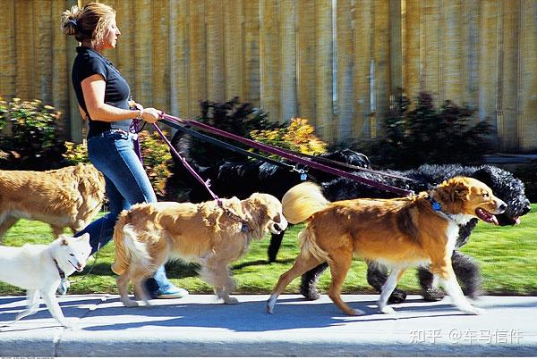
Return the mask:
{"type": "Polygon", "coordinates": [[[251,238],[261,239],[268,231],[279,233],[286,227],[282,205],[267,194],[254,193],[242,201],[224,199],[222,207],[215,201],[133,205],[120,214],[114,230],[112,271],[119,275],[121,300],[126,306],[138,305],[128,296],[132,280],[136,296],[149,305],[141,281],[168,259],[180,258],[200,263],[201,278],[214,286],[217,296],[226,304],[237,303],[229,296],[234,288],[229,264],[246,253],[251,238]]]}

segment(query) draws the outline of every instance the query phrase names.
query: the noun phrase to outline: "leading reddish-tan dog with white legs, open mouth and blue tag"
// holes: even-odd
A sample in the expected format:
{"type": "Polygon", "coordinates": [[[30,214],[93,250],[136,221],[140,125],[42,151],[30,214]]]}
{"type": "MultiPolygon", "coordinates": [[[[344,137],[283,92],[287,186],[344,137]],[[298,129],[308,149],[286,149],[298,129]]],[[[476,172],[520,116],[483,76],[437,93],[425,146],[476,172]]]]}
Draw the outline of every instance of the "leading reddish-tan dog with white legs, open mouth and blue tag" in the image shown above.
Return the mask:
{"type": "Polygon", "coordinates": [[[430,271],[461,311],[482,313],[466,300],[451,266],[458,225],[474,217],[498,224],[494,214],[507,207],[479,180],[457,177],[419,196],[334,203],[322,196],[317,185],[305,182],[291,188],[282,204],[290,223],[307,221],[307,225],[299,234],[301,254],[277,281],[267,302],[268,313],[291,280],[328,262],[332,274],[328,295],[346,314],[360,314],[340,296],[353,254],[391,268],[379,298],[382,313],[393,313],[388,297],[406,268],[425,263],[430,263],[430,271]]]}

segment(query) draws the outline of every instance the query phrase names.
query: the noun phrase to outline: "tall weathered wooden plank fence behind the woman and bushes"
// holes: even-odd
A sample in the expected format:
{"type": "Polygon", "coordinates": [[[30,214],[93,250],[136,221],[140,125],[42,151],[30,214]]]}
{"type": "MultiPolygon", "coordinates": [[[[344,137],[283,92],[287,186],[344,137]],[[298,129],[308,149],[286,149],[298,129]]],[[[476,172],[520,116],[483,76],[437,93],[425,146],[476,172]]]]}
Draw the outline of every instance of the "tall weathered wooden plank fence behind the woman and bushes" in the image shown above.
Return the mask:
{"type": "MultiPolygon", "coordinates": [[[[537,0],[107,0],[107,57],[142,104],[195,118],[239,96],[325,140],[374,138],[397,88],[490,121],[502,149],[537,147],[537,0]]],[[[59,29],[72,0],[0,0],[0,96],[39,98],[81,139],[59,29]]]]}

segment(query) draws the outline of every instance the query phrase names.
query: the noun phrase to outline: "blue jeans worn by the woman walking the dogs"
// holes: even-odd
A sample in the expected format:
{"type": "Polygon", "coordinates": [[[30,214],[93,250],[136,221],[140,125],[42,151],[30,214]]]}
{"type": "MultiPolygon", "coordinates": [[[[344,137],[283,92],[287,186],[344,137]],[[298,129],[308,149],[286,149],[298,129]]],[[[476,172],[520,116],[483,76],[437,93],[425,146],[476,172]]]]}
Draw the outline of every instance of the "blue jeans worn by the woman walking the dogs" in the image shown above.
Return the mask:
{"type": "MultiPolygon", "coordinates": [[[[121,211],[131,208],[134,204],[157,202],[148,175],[134,152],[133,143],[132,134],[114,129],[88,139],[90,161],[105,176],[110,210],[75,235],[78,237],[83,233],[90,233],[92,254],[112,239],[115,221],[121,211]]],[[[172,286],[166,278],[164,265],[145,285],[151,295],[166,291],[172,286]]]]}

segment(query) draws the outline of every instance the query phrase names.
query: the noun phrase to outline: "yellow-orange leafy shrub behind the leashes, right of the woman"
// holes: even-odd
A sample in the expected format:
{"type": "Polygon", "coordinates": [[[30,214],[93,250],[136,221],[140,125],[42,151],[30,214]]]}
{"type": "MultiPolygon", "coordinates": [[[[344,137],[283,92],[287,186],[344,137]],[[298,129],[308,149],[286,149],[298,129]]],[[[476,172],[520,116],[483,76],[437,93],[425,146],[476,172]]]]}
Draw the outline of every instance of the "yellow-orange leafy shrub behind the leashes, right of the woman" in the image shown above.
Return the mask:
{"type": "Polygon", "coordinates": [[[315,136],[315,128],[307,119],[294,118],[286,128],[254,129],[251,138],[270,146],[287,148],[302,154],[323,154],[327,144],[315,136]]]}

